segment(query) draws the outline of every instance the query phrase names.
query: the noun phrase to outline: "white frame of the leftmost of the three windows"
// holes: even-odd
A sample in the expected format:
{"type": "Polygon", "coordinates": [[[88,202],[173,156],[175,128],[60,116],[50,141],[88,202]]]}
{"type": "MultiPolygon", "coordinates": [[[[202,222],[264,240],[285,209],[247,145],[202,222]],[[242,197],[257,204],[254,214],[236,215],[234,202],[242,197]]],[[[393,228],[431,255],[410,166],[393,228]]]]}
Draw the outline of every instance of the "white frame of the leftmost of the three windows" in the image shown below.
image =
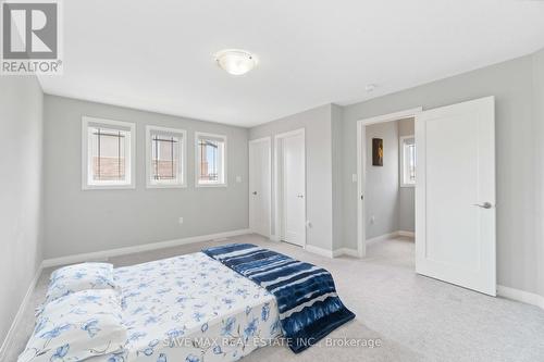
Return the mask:
{"type": "Polygon", "coordinates": [[[113,121],[97,118],[90,116],[82,117],[82,189],[83,190],[97,190],[97,189],[134,189],[136,188],[136,124],[131,122],[113,121]],[[125,142],[125,175],[124,182],[95,182],[90,179],[92,175],[92,161],[90,160],[91,153],[89,150],[89,124],[98,124],[104,128],[127,128],[128,142],[125,142]]]}

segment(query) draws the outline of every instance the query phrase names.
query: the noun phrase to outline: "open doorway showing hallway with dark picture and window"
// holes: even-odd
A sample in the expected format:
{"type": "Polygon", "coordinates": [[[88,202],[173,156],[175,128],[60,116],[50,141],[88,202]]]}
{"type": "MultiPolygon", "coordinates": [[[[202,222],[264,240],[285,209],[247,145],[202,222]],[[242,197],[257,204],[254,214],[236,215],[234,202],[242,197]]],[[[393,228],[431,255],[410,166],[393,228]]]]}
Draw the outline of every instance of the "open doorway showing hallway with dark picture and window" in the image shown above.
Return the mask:
{"type": "Polygon", "coordinates": [[[415,271],[415,118],[363,127],[367,258],[415,271]]]}

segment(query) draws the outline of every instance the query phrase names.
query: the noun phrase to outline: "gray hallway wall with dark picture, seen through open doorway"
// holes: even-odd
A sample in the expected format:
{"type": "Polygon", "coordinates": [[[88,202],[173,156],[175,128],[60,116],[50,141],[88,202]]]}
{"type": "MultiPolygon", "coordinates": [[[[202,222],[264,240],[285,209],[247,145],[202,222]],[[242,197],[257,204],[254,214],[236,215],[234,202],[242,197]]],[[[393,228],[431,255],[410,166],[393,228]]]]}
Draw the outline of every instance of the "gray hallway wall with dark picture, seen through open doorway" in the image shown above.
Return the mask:
{"type": "Polygon", "coordinates": [[[398,125],[379,123],[367,126],[366,130],[364,224],[366,237],[371,239],[398,230],[398,125]],[[372,165],[372,138],[383,139],[383,166],[372,165]]]}

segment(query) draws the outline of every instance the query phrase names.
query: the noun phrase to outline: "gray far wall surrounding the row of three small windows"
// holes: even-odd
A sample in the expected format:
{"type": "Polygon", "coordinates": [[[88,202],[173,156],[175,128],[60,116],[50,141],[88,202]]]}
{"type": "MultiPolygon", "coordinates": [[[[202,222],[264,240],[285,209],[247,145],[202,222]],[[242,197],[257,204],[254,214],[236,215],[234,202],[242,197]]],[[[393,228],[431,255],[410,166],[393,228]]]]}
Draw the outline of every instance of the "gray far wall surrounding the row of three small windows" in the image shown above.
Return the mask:
{"type": "Polygon", "coordinates": [[[246,128],[54,96],[44,114],[46,259],[248,227],[246,128]],[[83,115],[136,123],[136,189],[82,190],[83,115]],[[187,188],[146,189],[147,124],[187,130],[187,188]],[[227,136],[228,187],[195,188],[196,130],[227,136]]]}

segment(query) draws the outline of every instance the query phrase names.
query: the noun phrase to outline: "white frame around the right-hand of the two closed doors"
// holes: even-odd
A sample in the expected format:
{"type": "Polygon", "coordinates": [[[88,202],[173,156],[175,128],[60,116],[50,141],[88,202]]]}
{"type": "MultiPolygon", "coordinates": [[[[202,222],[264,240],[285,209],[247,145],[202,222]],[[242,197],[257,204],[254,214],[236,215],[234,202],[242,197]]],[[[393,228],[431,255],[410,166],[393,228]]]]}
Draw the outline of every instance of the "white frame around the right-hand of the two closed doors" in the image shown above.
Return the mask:
{"type": "MultiPolygon", "coordinates": [[[[280,204],[280,198],[283,197],[283,194],[280,191],[280,183],[283,183],[283,177],[282,180],[280,179],[280,164],[283,164],[283,154],[280,157],[280,151],[283,150],[283,140],[284,138],[292,137],[292,136],[302,136],[304,140],[304,160],[305,160],[305,170],[304,170],[304,184],[305,184],[305,207],[304,207],[304,212],[305,212],[305,227],[304,227],[304,245],[302,248],[306,249],[307,246],[307,227],[306,227],[306,220],[308,215],[308,192],[307,192],[307,162],[306,162],[306,129],[305,128],[298,128],[289,132],[285,132],[282,134],[277,134],[274,136],[274,234],[275,234],[275,239],[277,241],[282,241],[282,224],[283,224],[283,208],[279,208],[280,204]],[[280,160],[281,158],[281,160],[280,160]],[[280,163],[280,161],[282,161],[280,163]]],[[[282,173],[283,176],[283,173],[282,173]]]]}

